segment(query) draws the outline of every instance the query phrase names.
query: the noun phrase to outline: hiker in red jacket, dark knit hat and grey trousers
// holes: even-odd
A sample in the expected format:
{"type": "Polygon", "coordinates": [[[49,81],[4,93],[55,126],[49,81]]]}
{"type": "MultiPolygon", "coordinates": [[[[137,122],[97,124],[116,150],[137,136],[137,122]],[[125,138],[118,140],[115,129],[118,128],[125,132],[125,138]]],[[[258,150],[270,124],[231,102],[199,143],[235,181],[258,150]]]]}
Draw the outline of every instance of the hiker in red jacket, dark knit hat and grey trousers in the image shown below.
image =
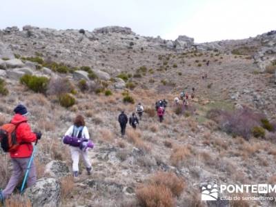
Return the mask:
{"type": "MultiPolygon", "coordinates": [[[[0,190],[0,203],[12,194],[14,188],[19,184],[19,181],[21,181],[23,174],[27,172],[30,157],[32,157],[32,142],[41,139],[41,132],[32,132],[28,124],[28,119],[26,117],[28,115],[27,108],[19,104],[13,111],[15,115],[12,117],[10,124],[14,124],[15,126],[15,137],[19,145],[8,151],[10,152],[13,166],[12,177],[10,177],[6,188],[2,191],[0,190]]],[[[1,128],[3,129],[4,126],[1,128]]],[[[32,161],[29,168],[27,186],[30,187],[34,185],[36,181],[37,172],[34,162],[32,161]]]]}

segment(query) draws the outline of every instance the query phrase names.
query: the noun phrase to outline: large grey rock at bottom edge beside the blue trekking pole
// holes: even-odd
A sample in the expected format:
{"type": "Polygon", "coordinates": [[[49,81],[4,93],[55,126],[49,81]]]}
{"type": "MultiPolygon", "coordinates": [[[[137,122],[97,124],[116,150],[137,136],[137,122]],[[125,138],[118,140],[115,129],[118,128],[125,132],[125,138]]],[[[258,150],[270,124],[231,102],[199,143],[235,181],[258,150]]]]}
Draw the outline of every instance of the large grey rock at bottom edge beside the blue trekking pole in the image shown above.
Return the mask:
{"type": "Polygon", "coordinates": [[[33,207],[59,206],[61,201],[61,186],[57,179],[41,178],[34,186],[27,188],[26,195],[33,207]]]}

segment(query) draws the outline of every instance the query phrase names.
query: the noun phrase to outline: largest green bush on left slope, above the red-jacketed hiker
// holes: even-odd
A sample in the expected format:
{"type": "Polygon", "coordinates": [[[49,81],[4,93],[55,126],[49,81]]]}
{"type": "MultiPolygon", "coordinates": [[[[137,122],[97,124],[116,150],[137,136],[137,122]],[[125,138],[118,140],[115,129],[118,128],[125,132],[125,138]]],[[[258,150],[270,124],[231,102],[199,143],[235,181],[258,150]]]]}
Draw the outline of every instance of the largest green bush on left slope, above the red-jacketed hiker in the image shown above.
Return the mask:
{"type": "Polygon", "coordinates": [[[49,79],[46,77],[37,77],[35,75],[23,75],[20,82],[34,92],[46,93],[49,79]]]}

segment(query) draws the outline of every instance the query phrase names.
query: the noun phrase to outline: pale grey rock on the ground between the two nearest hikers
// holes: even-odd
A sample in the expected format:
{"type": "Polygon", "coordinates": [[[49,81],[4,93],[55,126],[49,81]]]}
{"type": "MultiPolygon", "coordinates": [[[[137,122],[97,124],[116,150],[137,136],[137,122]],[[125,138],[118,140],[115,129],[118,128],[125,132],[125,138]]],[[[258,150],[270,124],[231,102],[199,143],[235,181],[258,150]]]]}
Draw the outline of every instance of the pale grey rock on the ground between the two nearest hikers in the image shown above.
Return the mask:
{"type": "Polygon", "coordinates": [[[53,160],[45,167],[45,174],[51,177],[61,178],[70,174],[69,168],[64,161],[53,160]]]}

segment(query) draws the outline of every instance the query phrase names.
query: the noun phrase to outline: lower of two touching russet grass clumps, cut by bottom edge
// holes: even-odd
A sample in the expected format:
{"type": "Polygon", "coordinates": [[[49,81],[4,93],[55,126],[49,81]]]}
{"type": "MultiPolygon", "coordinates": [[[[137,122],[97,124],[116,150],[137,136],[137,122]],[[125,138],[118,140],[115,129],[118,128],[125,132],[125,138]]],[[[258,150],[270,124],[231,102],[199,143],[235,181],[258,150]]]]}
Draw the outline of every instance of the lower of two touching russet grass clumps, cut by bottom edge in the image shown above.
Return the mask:
{"type": "Polygon", "coordinates": [[[144,207],[173,207],[175,201],[166,186],[149,184],[136,190],[139,204],[144,207]]]}

